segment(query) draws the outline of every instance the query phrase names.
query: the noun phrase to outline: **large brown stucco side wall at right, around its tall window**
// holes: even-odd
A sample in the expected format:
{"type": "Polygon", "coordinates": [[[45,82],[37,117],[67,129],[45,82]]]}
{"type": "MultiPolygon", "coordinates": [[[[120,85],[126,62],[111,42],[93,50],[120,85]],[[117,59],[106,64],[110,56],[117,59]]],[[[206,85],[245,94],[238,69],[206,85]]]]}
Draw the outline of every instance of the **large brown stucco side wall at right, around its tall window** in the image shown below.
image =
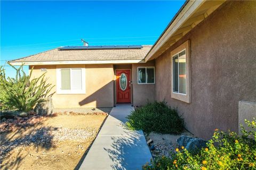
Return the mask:
{"type": "Polygon", "coordinates": [[[157,58],[156,99],[178,106],[186,128],[209,139],[238,131],[238,101],[256,101],[256,1],[225,2],[157,58]],[[171,98],[170,52],[190,39],[191,103],[171,98]]]}

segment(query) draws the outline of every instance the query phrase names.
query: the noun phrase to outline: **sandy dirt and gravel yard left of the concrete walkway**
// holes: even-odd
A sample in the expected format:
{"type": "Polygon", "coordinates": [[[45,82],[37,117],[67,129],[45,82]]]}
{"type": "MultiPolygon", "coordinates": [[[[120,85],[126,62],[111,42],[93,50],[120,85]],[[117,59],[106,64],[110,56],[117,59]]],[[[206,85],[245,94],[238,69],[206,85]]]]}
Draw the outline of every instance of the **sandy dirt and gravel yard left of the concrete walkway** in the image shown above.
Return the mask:
{"type": "Polygon", "coordinates": [[[5,149],[1,169],[76,169],[105,118],[106,115],[57,115],[26,129],[1,133],[2,147],[15,141],[14,149],[5,149]],[[41,138],[36,136],[37,131],[41,138]]]}

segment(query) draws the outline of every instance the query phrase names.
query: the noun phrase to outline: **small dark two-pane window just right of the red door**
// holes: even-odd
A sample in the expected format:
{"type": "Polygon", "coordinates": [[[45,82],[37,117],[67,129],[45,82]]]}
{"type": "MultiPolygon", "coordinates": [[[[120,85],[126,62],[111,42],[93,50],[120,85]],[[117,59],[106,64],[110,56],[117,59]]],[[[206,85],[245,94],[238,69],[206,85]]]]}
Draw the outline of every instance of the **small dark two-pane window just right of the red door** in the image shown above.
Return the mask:
{"type": "Polygon", "coordinates": [[[138,84],[154,84],[155,67],[138,67],[138,84]]]}

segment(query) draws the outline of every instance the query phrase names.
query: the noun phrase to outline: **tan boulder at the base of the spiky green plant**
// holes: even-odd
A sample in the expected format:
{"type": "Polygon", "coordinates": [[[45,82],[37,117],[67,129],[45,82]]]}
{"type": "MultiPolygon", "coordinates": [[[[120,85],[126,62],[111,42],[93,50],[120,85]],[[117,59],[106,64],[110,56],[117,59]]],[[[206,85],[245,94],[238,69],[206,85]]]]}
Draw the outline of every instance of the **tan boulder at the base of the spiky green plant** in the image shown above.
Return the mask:
{"type": "Polygon", "coordinates": [[[35,113],[37,115],[51,115],[53,114],[52,98],[44,98],[43,101],[38,103],[35,107],[35,113]]]}

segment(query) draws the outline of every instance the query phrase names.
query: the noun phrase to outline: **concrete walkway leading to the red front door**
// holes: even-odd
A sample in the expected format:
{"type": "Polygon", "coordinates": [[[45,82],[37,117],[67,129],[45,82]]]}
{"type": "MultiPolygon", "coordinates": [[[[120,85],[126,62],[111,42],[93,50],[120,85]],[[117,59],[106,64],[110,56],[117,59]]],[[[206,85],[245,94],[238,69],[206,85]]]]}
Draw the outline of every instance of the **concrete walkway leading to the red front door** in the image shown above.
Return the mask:
{"type": "Polygon", "coordinates": [[[113,107],[79,169],[141,169],[151,153],[142,131],[122,125],[134,108],[113,107]]]}

